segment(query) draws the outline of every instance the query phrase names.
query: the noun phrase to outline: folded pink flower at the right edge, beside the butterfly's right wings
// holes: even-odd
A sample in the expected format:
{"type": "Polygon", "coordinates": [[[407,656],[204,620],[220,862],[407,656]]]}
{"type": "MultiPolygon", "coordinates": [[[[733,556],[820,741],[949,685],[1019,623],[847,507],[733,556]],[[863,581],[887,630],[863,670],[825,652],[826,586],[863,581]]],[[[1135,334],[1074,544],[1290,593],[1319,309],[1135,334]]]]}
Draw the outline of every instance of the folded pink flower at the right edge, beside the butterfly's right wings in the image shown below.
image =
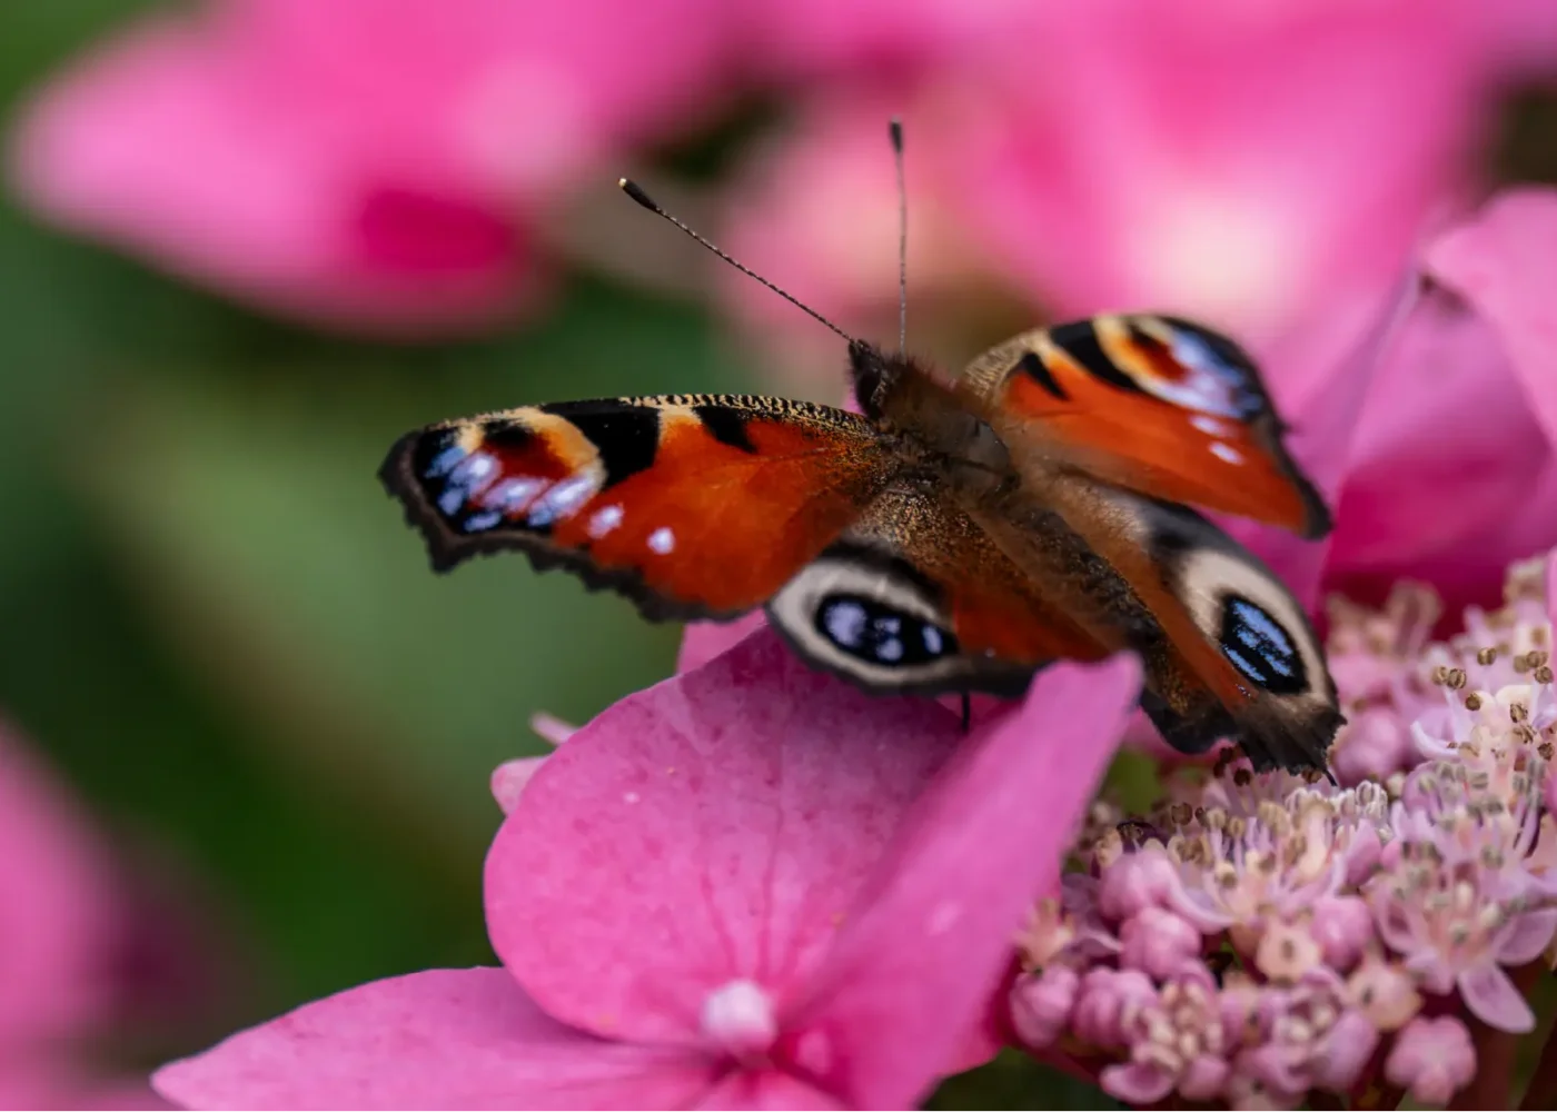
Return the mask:
{"type": "Polygon", "coordinates": [[[1495,601],[1507,564],[1557,544],[1557,190],[1495,196],[1423,266],[1348,453],[1327,576],[1495,601]]]}

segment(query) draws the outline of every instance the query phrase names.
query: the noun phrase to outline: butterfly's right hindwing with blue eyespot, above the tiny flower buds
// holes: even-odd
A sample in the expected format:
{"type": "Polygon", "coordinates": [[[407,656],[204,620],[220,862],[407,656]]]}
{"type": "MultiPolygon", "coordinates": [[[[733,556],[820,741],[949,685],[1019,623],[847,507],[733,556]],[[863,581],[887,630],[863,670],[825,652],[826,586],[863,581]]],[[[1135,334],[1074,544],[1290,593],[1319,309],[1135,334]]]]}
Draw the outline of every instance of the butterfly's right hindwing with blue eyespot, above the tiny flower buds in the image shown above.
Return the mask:
{"type": "Polygon", "coordinates": [[[1063,472],[968,498],[1046,596],[1138,651],[1141,706],[1174,748],[1238,738],[1256,768],[1325,768],[1344,721],[1323,649],[1281,581],[1200,514],[1063,472]]]}

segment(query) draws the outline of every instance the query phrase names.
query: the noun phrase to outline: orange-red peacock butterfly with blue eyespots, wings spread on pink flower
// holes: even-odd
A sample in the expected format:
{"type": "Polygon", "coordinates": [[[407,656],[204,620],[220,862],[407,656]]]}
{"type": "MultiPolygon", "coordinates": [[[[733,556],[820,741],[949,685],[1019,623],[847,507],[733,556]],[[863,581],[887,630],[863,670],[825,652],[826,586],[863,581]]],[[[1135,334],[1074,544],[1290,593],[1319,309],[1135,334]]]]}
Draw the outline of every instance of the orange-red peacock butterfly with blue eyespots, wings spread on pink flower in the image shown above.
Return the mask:
{"type": "Polygon", "coordinates": [[[1177,749],[1232,737],[1256,768],[1325,768],[1344,718],[1303,607],[1190,508],[1331,526],[1233,341],[1096,316],[944,380],[841,335],[859,413],[554,402],[411,431],[380,478],[439,572],[518,550],[651,620],[764,607],[811,665],[872,691],[1015,696],[1049,662],[1132,649],[1177,749]]]}

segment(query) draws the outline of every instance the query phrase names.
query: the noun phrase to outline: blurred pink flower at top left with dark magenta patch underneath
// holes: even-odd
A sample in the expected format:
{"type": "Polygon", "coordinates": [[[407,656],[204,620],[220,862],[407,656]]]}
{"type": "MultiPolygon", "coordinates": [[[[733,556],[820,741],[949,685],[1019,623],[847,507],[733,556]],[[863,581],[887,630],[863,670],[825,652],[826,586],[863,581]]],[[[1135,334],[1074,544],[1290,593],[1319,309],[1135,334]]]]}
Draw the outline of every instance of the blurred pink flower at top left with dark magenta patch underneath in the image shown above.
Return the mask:
{"type": "Polygon", "coordinates": [[[722,9],[226,0],[45,87],[25,199],[240,297],[391,333],[509,315],[540,207],[696,109],[722,9]]]}

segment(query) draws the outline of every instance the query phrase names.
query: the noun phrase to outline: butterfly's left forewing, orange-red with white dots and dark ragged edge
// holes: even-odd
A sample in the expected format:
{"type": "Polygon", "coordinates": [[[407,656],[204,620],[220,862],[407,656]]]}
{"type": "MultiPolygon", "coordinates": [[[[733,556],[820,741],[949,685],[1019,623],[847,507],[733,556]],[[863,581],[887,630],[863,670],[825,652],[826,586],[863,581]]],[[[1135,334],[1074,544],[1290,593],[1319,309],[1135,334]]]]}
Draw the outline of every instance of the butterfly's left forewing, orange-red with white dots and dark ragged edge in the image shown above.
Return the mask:
{"type": "Polygon", "coordinates": [[[380,478],[436,570],[520,550],[649,618],[727,618],[768,601],[892,473],[852,413],[676,394],[430,425],[391,449],[380,478]]]}

